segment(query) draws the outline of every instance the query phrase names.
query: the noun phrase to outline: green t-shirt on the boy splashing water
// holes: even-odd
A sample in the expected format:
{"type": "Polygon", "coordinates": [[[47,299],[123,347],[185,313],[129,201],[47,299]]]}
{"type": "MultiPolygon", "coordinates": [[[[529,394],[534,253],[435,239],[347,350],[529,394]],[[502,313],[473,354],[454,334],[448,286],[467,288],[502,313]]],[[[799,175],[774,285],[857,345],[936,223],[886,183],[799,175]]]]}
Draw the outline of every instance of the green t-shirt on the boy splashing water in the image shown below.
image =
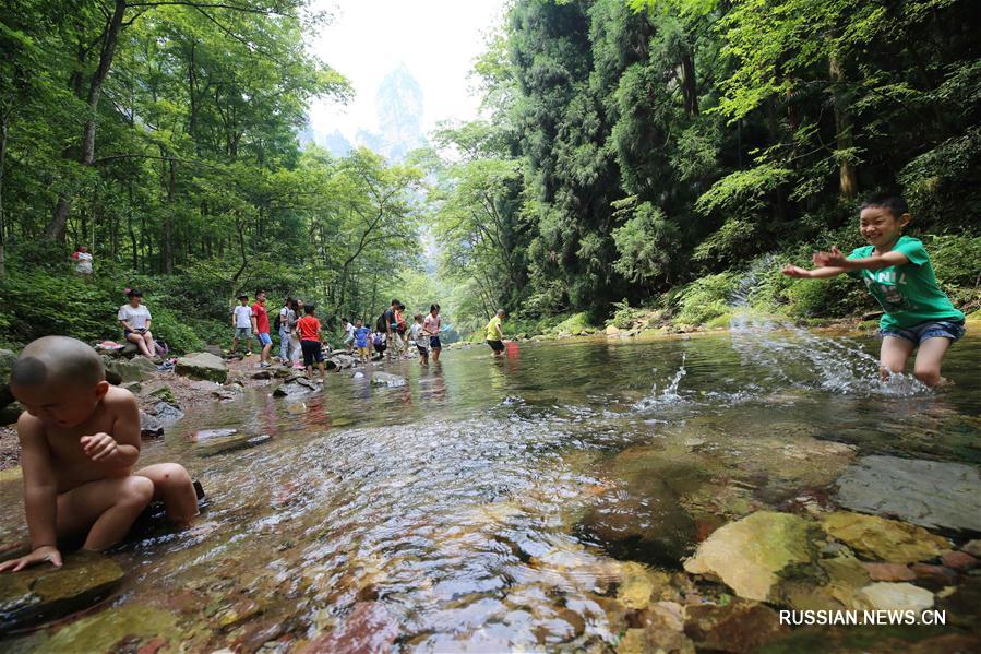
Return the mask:
{"type": "MultiPolygon", "coordinates": [[[[873,246],[856,248],[848,258],[872,257],[873,250],[873,246]]],[[[964,313],[954,308],[936,283],[930,257],[919,239],[901,236],[893,251],[906,254],[909,263],[848,273],[850,277],[865,282],[869,292],[885,311],[878,321],[882,329],[908,330],[924,322],[964,320],[964,313]]]]}

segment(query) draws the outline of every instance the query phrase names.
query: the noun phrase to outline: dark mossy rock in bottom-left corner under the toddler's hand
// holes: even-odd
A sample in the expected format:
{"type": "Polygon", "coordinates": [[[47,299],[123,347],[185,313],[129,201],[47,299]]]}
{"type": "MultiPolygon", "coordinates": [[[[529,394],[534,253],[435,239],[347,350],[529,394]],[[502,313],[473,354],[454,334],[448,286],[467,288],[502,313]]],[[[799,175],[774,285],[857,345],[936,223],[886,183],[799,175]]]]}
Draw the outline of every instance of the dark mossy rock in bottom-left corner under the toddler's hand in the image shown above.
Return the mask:
{"type": "Polygon", "coordinates": [[[67,555],[61,568],[45,563],[4,572],[0,630],[36,626],[88,608],[108,597],[122,578],[112,559],[92,551],[67,555]]]}

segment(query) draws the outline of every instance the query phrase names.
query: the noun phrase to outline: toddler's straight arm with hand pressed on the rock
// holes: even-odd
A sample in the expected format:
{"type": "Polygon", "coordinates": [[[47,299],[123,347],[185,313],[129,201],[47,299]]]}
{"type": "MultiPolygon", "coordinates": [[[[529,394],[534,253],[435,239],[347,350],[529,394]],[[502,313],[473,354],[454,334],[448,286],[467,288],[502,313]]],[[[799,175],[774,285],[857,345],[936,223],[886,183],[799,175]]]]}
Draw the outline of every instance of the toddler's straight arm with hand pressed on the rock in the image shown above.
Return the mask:
{"type": "Polygon", "coordinates": [[[24,413],[17,420],[17,437],[21,441],[24,512],[27,514],[27,531],[31,534],[31,554],[0,563],[0,572],[16,572],[45,561],[60,567],[61,552],[58,551],[56,527],[58,483],[44,427],[37,418],[24,413]]]}

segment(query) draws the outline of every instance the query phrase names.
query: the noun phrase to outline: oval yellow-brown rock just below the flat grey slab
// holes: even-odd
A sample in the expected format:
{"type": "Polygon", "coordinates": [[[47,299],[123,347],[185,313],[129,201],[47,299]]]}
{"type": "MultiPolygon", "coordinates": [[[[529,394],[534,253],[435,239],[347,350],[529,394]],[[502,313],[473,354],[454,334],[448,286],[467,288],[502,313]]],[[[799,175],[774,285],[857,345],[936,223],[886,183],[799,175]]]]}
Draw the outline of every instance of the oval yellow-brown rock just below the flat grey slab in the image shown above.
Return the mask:
{"type": "Polygon", "coordinates": [[[923,527],[877,515],[837,511],[823,515],[821,526],[860,555],[889,563],[925,561],[950,549],[946,538],[923,527]]]}

